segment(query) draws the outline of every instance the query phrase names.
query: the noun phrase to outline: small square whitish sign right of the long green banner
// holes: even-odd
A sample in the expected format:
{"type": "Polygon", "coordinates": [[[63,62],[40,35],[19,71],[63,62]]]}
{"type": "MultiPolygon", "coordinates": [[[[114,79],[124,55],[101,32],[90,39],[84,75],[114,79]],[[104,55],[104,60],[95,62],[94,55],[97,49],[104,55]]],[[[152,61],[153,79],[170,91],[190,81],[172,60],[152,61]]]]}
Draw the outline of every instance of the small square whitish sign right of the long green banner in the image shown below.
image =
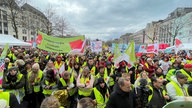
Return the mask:
{"type": "Polygon", "coordinates": [[[101,52],[102,51],[102,41],[91,41],[91,50],[92,52],[101,52]]]}

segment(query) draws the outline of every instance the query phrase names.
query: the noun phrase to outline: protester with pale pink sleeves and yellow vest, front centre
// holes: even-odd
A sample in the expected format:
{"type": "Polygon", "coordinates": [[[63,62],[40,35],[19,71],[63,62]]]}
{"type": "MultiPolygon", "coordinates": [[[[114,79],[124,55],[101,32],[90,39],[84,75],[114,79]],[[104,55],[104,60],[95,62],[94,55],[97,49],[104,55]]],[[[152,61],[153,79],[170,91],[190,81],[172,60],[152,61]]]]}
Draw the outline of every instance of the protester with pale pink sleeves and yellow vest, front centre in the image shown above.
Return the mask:
{"type": "Polygon", "coordinates": [[[79,99],[90,96],[93,89],[94,77],[91,75],[88,67],[83,68],[83,72],[77,78],[77,87],[79,99]]]}

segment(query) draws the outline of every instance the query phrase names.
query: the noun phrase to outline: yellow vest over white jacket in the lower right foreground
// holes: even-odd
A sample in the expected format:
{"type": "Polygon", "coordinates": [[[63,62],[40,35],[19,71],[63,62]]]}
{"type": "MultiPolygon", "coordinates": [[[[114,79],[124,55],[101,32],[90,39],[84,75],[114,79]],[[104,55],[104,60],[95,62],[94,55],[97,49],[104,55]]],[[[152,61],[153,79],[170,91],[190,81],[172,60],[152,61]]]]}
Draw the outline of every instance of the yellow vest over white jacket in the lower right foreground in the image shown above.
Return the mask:
{"type": "MultiPolygon", "coordinates": [[[[176,90],[177,96],[185,96],[182,89],[180,88],[180,86],[176,82],[171,81],[166,86],[169,86],[169,84],[172,84],[174,86],[174,89],[176,90]]],[[[185,89],[186,95],[189,96],[188,91],[187,91],[187,87],[184,87],[184,89],[185,89]]]]}

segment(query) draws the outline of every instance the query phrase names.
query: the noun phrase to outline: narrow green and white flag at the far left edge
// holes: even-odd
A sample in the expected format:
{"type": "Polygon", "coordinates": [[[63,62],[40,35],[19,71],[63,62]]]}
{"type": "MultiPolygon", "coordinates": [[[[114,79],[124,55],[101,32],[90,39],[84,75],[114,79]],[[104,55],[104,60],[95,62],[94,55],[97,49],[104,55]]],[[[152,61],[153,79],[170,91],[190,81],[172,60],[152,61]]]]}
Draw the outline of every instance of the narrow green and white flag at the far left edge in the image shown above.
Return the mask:
{"type": "Polygon", "coordinates": [[[1,54],[1,57],[0,57],[0,88],[2,87],[2,80],[3,80],[3,70],[4,70],[4,66],[5,66],[5,57],[7,55],[7,50],[9,49],[9,45],[6,44],[4,46],[4,49],[3,49],[3,52],[1,54]]]}

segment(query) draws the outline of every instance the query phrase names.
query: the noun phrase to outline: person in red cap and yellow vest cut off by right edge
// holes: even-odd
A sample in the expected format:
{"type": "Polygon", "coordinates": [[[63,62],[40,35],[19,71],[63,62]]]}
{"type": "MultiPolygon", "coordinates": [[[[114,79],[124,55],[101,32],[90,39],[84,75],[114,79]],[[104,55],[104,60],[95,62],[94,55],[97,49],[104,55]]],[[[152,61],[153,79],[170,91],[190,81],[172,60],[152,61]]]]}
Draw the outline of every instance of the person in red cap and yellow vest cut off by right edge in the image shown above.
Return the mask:
{"type": "Polygon", "coordinates": [[[187,81],[192,83],[192,64],[185,64],[184,68],[180,69],[180,71],[187,76],[187,81]]]}

